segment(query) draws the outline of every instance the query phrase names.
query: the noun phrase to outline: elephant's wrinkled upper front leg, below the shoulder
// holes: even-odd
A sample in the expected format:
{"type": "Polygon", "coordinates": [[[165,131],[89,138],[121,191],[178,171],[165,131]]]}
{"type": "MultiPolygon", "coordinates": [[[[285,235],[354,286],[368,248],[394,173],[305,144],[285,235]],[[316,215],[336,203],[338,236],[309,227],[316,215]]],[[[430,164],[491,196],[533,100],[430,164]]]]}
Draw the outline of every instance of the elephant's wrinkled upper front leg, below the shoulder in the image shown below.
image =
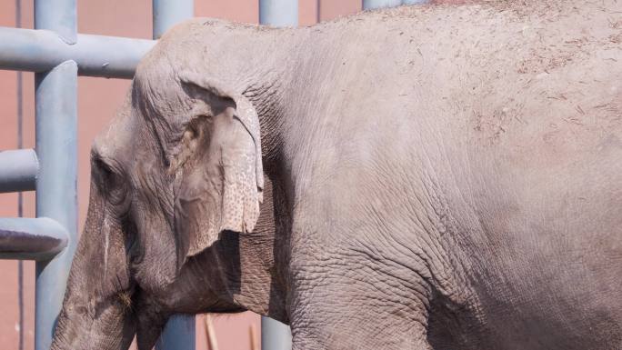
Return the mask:
{"type": "Polygon", "coordinates": [[[292,266],[294,349],[431,349],[423,278],[374,264],[342,256],[292,266]]]}

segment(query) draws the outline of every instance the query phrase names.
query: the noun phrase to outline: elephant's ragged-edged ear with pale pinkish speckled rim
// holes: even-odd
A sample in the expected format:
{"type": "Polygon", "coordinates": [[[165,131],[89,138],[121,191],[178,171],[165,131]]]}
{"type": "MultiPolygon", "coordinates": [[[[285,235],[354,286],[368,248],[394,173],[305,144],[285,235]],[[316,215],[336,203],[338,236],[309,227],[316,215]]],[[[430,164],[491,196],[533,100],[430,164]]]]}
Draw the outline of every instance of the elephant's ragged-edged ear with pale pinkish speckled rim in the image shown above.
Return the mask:
{"type": "Polygon", "coordinates": [[[171,160],[177,263],[226,230],[250,232],[263,201],[259,119],[241,94],[193,72],[179,80],[195,106],[171,160]]]}

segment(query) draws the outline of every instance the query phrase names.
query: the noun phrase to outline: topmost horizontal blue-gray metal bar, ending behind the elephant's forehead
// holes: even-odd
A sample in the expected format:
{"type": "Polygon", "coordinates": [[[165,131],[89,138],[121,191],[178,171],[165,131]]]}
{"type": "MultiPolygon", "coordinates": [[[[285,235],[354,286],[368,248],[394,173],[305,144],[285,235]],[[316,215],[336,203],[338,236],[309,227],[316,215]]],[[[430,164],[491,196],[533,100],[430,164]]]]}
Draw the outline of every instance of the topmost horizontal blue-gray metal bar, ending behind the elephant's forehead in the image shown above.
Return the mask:
{"type": "Polygon", "coordinates": [[[85,34],[70,45],[48,30],[0,27],[0,69],[41,73],[73,60],[78,75],[131,79],[154,45],[154,40],[85,34]]]}

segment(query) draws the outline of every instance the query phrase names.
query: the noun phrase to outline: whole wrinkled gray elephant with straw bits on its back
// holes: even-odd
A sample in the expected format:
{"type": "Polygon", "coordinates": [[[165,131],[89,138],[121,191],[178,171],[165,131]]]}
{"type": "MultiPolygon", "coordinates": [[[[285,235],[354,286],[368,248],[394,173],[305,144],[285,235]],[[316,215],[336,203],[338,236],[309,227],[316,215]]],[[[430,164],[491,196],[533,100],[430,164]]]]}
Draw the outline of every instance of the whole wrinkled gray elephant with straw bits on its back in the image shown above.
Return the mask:
{"type": "Polygon", "coordinates": [[[622,2],[533,3],[176,26],[93,146],[53,348],[245,309],[296,350],[621,348],[622,2]]]}

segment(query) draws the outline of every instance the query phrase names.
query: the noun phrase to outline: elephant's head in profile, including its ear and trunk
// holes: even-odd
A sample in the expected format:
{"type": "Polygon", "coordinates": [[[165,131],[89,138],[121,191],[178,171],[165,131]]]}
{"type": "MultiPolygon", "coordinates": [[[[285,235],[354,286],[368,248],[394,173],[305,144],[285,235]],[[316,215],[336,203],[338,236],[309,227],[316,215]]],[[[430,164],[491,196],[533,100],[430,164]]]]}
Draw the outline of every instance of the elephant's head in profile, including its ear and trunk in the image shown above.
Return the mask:
{"type": "MultiPolygon", "coordinates": [[[[224,287],[181,279],[223,232],[256,226],[264,190],[256,107],[201,65],[171,65],[166,43],[139,65],[92,147],[88,214],[53,349],[122,349],[135,334],[150,349],[173,313],[241,310],[216,293],[224,287]],[[200,300],[184,304],[196,289],[200,300]]],[[[222,281],[229,272],[211,262],[216,271],[201,274],[222,281]]]]}

